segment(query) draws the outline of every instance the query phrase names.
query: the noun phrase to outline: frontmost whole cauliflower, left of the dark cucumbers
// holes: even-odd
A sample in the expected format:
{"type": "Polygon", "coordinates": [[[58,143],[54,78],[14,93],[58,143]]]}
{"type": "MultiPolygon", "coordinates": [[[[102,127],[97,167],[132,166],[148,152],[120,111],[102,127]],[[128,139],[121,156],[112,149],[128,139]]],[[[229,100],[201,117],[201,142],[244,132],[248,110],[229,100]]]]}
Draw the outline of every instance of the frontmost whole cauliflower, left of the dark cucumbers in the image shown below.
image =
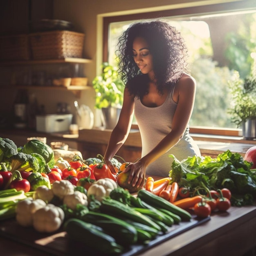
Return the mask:
{"type": "Polygon", "coordinates": [[[61,227],[64,217],[63,209],[54,204],[47,204],[33,214],[34,229],[38,232],[54,232],[61,227]]]}

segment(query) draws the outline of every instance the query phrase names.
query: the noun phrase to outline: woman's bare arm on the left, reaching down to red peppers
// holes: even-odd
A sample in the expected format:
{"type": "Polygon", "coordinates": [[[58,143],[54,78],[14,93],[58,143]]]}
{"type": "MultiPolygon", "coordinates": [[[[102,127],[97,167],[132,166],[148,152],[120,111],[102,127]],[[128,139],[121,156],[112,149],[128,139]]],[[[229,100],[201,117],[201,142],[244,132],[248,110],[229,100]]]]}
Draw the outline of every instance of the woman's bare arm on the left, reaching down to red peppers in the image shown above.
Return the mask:
{"type": "Polygon", "coordinates": [[[132,125],[133,114],[134,98],[129,94],[127,88],[125,88],[124,103],[120,112],[119,120],[110,135],[108,146],[104,155],[104,160],[112,173],[115,173],[115,170],[110,160],[114,157],[119,148],[121,148],[121,146],[126,141],[132,125]]]}

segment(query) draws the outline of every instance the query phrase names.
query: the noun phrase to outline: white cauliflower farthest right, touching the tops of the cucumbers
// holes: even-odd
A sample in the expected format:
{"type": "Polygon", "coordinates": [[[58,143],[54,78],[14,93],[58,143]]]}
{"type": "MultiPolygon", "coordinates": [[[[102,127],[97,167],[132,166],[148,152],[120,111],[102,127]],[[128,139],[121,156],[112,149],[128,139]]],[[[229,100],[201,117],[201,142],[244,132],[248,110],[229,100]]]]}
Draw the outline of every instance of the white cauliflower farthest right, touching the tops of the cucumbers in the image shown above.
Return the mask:
{"type": "Polygon", "coordinates": [[[87,196],[89,200],[91,196],[94,196],[96,200],[101,202],[103,198],[109,196],[110,192],[116,188],[117,183],[114,180],[110,178],[99,179],[89,187],[87,196]]]}

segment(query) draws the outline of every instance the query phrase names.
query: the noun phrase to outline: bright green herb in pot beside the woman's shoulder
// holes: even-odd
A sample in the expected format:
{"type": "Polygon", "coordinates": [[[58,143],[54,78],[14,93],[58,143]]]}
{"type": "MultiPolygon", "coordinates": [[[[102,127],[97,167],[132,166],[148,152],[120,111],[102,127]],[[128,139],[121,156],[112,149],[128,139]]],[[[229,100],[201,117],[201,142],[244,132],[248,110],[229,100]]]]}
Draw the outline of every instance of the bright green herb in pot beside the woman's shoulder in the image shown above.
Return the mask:
{"type": "Polygon", "coordinates": [[[117,67],[104,62],[102,73],[96,76],[92,85],[96,92],[95,108],[101,109],[103,125],[106,129],[115,128],[124,99],[124,83],[118,77],[117,67]]]}

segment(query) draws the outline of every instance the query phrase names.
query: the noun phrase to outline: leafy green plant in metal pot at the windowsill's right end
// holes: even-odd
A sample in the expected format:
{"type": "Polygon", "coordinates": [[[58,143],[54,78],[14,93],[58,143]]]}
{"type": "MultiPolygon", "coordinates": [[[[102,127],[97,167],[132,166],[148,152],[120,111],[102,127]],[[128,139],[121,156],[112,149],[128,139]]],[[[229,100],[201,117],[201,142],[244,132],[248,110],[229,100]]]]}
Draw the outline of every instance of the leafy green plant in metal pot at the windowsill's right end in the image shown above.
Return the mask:
{"type": "Polygon", "coordinates": [[[245,139],[256,138],[256,75],[252,72],[241,79],[236,71],[229,87],[232,95],[231,120],[242,127],[245,139]]]}

